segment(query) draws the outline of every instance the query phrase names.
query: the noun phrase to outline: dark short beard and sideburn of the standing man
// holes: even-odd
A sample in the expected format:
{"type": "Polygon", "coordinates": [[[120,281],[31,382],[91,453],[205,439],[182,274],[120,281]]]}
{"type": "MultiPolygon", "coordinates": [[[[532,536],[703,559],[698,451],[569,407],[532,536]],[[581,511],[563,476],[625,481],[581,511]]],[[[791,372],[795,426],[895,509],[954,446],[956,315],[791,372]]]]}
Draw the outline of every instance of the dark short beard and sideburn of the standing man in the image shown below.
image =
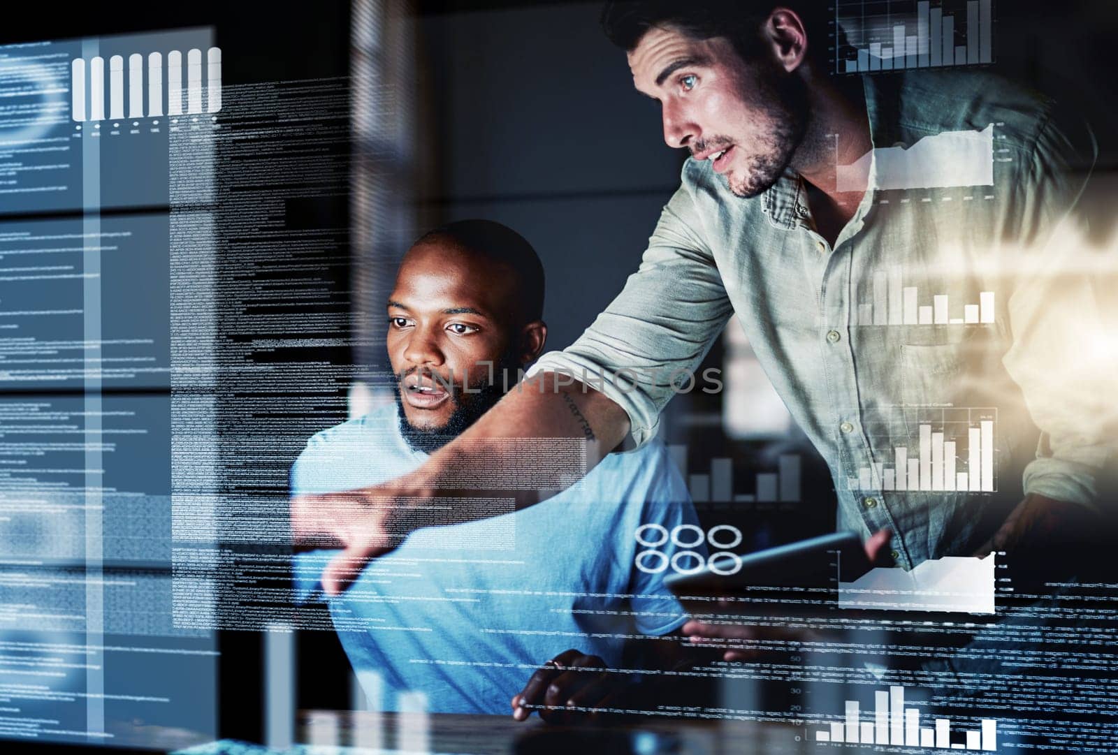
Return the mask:
{"type": "Polygon", "coordinates": [[[757,103],[766,111],[773,124],[768,150],[754,155],[740,180],[727,180],[730,191],[742,199],[758,197],[776,184],[784,175],[807,131],[807,89],[798,76],[778,70],[775,64],[761,63],[757,89],[742,97],[757,103]],[[770,67],[771,65],[771,67],[770,67]]]}

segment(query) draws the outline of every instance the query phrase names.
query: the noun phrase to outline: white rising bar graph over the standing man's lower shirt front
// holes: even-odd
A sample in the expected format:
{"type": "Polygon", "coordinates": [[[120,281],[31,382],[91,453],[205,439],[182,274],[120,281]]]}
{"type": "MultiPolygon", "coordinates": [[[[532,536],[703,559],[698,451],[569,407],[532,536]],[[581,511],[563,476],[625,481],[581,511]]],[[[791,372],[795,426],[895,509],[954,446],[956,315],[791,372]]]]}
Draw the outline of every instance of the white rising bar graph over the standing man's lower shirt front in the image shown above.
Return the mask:
{"type": "Polygon", "coordinates": [[[996,493],[995,408],[896,407],[863,421],[874,448],[893,446],[888,459],[858,469],[851,490],[996,493]]]}

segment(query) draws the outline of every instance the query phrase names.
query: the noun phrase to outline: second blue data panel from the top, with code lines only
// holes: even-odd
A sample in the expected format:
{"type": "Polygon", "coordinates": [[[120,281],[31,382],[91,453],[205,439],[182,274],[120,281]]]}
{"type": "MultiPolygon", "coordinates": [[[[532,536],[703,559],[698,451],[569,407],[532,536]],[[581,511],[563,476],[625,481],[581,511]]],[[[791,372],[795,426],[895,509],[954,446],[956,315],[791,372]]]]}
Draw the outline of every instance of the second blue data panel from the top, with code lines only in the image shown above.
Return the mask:
{"type": "Polygon", "coordinates": [[[165,213],[0,222],[0,389],[169,388],[165,213]]]}

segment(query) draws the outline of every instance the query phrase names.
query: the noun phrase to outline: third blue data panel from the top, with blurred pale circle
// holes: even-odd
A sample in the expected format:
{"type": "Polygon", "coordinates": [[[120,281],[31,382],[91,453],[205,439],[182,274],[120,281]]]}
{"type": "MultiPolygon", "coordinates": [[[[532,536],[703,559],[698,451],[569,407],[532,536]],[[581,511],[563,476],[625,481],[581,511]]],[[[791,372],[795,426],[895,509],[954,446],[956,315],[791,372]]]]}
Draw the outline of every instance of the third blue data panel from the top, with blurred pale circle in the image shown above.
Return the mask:
{"type": "Polygon", "coordinates": [[[171,563],[171,396],[0,398],[0,563],[171,563]]]}

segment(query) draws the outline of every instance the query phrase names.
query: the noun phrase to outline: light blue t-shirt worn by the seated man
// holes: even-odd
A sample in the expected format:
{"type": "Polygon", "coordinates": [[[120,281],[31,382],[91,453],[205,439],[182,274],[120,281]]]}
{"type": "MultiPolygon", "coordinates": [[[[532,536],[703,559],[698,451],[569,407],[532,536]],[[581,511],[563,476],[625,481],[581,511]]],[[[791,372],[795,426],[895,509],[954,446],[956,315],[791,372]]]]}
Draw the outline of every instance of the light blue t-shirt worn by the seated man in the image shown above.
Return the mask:
{"type": "MultiPolygon", "coordinates": [[[[426,458],[404,440],[389,405],[311,438],[292,469],[292,491],[376,485],[426,458]]],[[[644,524],[664,528],[643,531],[646,542],[697,524],[683,479],[659,442],[609,455],[580,485],[536,506],[413,533],[329,601],[331,617],[367,695],[382,709],[397,710],[401,692],[418,691],[432,711],[509,714],[532,671],[565,650],[618,667],[627,638],[683,624],[683,608],[664,586],[672,570],[657,570],[686,548],[666,538],[655,548],[665,557],[644,557],[647,571],[637,568],[646,546],[635,535],[644,524]]],[[[689,542],[693,532],[681,531],[679,539],[689,542]]],[[[332,553],[296,558],[304,594],[321,595],[318,579],[332,553]]]]}

